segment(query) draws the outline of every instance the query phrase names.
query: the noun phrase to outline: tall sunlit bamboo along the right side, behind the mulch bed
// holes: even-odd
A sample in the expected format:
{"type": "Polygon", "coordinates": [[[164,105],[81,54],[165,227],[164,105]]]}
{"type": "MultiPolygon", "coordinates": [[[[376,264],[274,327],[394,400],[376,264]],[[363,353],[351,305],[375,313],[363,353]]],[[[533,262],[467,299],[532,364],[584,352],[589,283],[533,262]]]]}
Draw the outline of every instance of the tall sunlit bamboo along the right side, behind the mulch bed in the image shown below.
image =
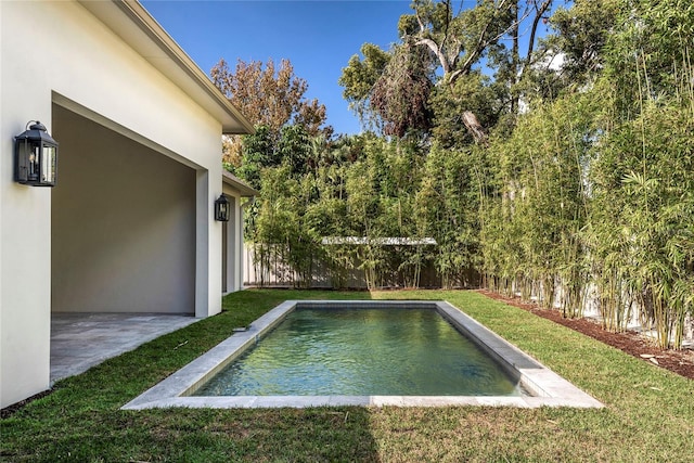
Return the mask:
{"type": "Polygon", "coordinates": [[[483,271],[567,317],[593,294],[606,329],[638,317],[680,348],[694,311],[694,7],[625,3],[590,88],[491,143],[483,271]]]}

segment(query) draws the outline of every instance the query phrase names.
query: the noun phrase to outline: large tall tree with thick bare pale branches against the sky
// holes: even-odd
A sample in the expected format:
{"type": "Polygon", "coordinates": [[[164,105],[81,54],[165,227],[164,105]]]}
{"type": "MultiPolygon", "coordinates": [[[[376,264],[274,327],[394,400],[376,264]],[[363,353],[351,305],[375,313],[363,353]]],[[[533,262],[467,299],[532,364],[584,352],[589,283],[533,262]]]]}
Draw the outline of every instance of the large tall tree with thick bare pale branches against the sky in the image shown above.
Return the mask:
{"type": "MultiPolygon", "coordinates": [[[[403,134],[408,129],[434,126],[439,108],[427,94],[436,89],[439,102],[452,100],[459,106],[457,123],[475,141],[486,143],[490,126],[485,124],[498,117],[483,121],[472,107],[464,106],[467,97],[457,93],[458,82],[471,76],[478,79],[475,74],[484,62],[494,69],[499,89],[510,93],[504,110],[515,114],[519,99],[515,86],[534,60],[537,28],[551,7],[552,0],[480,0],[474,8],[454,12],[451,0],[415,0],[414,14],[401,16],[398,23],[401,43],[388,52],[364,46],[364,60],[352,56],[343,69],[345,97],[360,108],[360,115],[377,115],[386,133],[403,134]],[[519,25],[528,21],[528,49],[522,59],[519,25]],[[513,43],[511,50],[503,43],[506,39],[513,43]]],[[[497,100],[489,103],[498,107],[497,100]]]]}

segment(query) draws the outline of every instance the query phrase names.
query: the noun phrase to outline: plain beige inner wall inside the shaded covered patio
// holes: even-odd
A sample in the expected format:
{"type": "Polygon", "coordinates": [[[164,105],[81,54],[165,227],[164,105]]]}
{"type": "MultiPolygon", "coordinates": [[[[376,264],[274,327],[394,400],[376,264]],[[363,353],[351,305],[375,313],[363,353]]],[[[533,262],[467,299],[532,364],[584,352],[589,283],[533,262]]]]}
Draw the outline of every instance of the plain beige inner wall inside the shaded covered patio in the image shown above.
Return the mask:
{"type": "Polygon", "coordinates": [[[52,311],[195,311],[195,170],[54,105],[52,311]]]}

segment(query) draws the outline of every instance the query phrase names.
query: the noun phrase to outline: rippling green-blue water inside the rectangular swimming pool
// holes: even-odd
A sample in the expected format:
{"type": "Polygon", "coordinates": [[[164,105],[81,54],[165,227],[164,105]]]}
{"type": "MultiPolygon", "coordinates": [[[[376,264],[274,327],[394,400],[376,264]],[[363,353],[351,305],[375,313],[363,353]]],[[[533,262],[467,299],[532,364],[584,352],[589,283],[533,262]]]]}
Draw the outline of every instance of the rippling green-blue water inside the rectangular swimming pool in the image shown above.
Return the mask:
{"type": "Polygon", "coordinates": [[[522,396],[435,309],[298,308],[193,396],[522,396]]]}

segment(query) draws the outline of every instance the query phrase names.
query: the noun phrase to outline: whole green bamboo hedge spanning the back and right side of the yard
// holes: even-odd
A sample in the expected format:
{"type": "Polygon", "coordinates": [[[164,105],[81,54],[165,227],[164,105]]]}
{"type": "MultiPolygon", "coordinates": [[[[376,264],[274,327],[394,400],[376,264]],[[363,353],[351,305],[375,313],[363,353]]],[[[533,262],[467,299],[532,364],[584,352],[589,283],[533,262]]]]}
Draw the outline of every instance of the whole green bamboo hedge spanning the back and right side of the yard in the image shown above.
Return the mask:
{"type": "Polygon", "coordinates": [[[260,265],[279,253],[296,286],[320,258],[337,285],[359,268],[369,287],[396,273],[417,287],[432,263],[444,287],[519,294],[571,318],[590,303],[605,329],[638,318],[680,348],[694,316],[694,7],[615,2],[602,68],[553,99],[528,93],[529,110],[501,118],[486,144],[304,138],[312,144],[254,168],[247,239],[260,265]]]}

